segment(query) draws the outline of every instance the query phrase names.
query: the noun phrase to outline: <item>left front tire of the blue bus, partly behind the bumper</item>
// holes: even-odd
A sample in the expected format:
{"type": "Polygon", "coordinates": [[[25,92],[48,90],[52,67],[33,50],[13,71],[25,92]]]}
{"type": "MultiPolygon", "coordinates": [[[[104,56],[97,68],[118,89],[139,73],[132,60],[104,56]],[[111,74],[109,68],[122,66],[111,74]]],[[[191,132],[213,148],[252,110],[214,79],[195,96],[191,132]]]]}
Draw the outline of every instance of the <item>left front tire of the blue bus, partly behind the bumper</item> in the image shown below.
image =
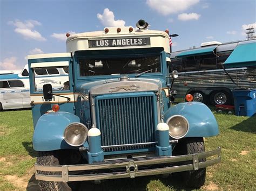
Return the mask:
{"type": "MultiPolygon", "coordinates": [[[[65,150],[64,150],[65,151],[65,150]]],[[[38,165],[63,165],[62,164],[62,156],[63,151],[49,151],[49,152],[38,152],[37,164],[38,165]]],[[[68,153],[70,154],[70,153],[68,153]]],[[[66,153],[66,157],[68,157],[66,153]]],[[[72,155],[72,154],[71,154],[72,155]]],[[[63,157],[65,158],[65,157],[63,157]]],[[[70,163],[70,162],[69,162],[70,163]]],[[[68,165],[68,164],[66,164],[68,165]]],[[[42,174],[48,175],[60,175],[60,172],[40,172],[42,174]]],[[[65,183],[65,182],[49,182],[38,180],[38,185],[41,190],[75,190],[77,188],[77,182],[65,183]]]]}

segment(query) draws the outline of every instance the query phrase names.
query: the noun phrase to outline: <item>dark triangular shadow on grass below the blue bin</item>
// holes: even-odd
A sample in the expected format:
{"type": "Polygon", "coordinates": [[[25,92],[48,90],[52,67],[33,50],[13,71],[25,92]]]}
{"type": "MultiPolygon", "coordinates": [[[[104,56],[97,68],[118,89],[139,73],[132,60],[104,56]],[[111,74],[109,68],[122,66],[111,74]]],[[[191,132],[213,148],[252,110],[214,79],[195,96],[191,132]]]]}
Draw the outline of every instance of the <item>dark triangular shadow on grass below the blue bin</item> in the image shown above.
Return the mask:
{"type": "Polygon", "coordinates": [[[256,116],[250,117],[241,123],[232,126],[231,129],[236,131],[244,131],[244,132],[250,132],[250,133],[256,133],[256,116]]]}

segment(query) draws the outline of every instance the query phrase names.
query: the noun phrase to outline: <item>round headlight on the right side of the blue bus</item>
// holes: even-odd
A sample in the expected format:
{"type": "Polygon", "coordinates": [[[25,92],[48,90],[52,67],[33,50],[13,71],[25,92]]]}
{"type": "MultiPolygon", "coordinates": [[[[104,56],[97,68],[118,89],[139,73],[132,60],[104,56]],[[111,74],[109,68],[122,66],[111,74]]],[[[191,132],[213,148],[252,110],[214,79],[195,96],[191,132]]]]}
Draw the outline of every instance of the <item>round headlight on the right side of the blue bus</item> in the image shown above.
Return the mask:
{"type": "Polygon", "coordinates": [[[181,115],[174,115],[167,119],[169,135],[174,139],[180,139],[186,135],[189,129],[188,121],[181,115]]]}

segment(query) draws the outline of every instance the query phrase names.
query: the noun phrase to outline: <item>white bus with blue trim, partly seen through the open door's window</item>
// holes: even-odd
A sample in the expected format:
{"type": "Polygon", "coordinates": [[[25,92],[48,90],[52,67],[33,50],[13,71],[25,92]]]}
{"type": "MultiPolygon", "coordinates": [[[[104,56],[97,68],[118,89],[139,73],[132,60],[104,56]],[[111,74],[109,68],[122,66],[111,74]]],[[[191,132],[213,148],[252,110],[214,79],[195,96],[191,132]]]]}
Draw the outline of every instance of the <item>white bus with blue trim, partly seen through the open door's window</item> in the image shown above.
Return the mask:
{"type": "MultiPolygon", "coordinates": [[[[30,85],[28,65],[19,74],[0,75],[0,110],[30,108],[30,85]]],[[[62,89],[69,80],[68,69],[62,67],[35,68],[37,91],[45,83],[52,84],[53,89],[62,89]]]]}

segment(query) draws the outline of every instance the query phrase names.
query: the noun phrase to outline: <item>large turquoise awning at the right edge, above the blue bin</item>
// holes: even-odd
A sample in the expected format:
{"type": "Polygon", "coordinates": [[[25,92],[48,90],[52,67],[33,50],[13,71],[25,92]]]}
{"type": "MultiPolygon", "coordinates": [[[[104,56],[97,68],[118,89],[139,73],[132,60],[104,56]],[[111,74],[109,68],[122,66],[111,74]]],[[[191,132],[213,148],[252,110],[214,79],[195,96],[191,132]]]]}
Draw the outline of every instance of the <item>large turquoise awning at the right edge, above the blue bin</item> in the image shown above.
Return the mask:
{"type": "Polygon", "coordinates": [[[225,68],[256,66],[256,41],[238,44],[224,62],[225,68]]]}

